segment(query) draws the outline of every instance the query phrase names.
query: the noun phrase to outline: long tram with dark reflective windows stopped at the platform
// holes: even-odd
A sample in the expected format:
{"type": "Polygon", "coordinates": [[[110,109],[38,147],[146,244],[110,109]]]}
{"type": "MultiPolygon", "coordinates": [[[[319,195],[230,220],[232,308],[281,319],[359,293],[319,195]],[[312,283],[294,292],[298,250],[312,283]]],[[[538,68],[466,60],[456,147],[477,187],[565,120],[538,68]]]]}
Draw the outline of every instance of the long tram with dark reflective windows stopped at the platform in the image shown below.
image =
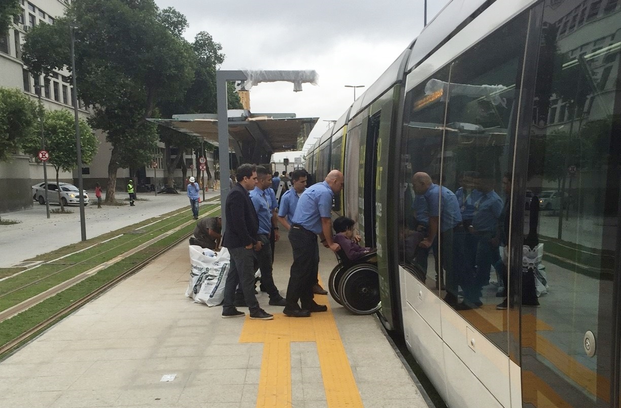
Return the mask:
{"type": "Polygon", "coordinates": [[[618,0],[453,0],[307,153],[450,407],[621,404],[620,55],[618,0]]]}

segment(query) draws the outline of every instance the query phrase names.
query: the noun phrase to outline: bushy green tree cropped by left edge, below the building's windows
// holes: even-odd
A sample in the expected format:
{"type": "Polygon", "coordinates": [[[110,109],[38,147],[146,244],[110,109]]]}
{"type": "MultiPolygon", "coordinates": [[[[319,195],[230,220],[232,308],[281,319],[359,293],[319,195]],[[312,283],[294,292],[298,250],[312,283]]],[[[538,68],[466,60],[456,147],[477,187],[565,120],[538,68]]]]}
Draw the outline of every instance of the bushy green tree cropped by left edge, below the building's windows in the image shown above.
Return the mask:
{"type": "Polygon", "coordinates": [[[37,124],[37,105],[19,89],[0,88],[0,160],[16,153],[37,124]]]}

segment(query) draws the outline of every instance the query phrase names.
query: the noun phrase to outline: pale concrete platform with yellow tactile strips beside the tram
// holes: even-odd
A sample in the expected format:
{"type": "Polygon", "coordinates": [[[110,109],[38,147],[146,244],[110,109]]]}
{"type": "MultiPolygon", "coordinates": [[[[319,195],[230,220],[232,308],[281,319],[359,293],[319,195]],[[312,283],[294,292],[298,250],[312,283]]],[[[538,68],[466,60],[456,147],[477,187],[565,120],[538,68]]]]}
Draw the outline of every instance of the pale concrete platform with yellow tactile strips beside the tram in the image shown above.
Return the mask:
{"type": "MultiPolygon", "coordinates": [[[[336,261],[321,251],[326,282],[336,261]]],[[[290,265],[285,239],[282,294],[290,265]]],[[[47,330],[0,363],[0,406],[427,407],[376,317],[317,296],[328,312],[289,318],[260,293],[274,320],[221,319],[220,306],[184,297],[188,280],[181,244],[47,330]]]]}

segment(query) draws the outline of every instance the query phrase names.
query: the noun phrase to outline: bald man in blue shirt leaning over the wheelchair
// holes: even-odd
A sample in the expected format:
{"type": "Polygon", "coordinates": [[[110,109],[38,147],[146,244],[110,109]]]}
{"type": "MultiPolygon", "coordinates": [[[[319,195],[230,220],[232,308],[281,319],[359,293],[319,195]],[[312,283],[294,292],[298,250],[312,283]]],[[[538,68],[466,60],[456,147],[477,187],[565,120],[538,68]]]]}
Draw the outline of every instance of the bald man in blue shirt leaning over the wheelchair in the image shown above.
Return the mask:
{"type": "Polygon", "coordinates": [[[322,183],[307,188],[297,202],[289,230],[293,265],[284,315],[309,317],[311,312],[328,310],[327,306],[319,305],[313,300],[313,286],[319,271],[317,235],[324,247],[330,248],[333,252],[340,250],[340,246],[332,241],[331,214],[332,199],[334,194],[343,189],[343,184],[343,173],[332,170],[322,183]]]}

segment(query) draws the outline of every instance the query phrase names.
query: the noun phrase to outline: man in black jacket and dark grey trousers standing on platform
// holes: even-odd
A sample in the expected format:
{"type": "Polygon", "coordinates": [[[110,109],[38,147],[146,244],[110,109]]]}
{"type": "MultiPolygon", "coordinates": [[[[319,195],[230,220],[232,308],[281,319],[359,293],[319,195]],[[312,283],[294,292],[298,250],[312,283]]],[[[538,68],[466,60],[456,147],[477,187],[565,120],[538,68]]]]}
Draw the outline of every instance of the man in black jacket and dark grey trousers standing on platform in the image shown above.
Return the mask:
{"type": "Polygon", "coordinates": [[[222,246],[229,250],[231,268],[224,286],[222,317],[245,315],[233,305],[235,288],[240,284],[250,309],[250,319],[271,320],[274,316],[259,307],[255,296],[255,251],[261,250],[261,241],[258,240],[258,217],[248,192],[256,185],[256,166],[241,165],[236,175],[237,183],[231,189],[225,205],[227,225],[222,246]]]}

